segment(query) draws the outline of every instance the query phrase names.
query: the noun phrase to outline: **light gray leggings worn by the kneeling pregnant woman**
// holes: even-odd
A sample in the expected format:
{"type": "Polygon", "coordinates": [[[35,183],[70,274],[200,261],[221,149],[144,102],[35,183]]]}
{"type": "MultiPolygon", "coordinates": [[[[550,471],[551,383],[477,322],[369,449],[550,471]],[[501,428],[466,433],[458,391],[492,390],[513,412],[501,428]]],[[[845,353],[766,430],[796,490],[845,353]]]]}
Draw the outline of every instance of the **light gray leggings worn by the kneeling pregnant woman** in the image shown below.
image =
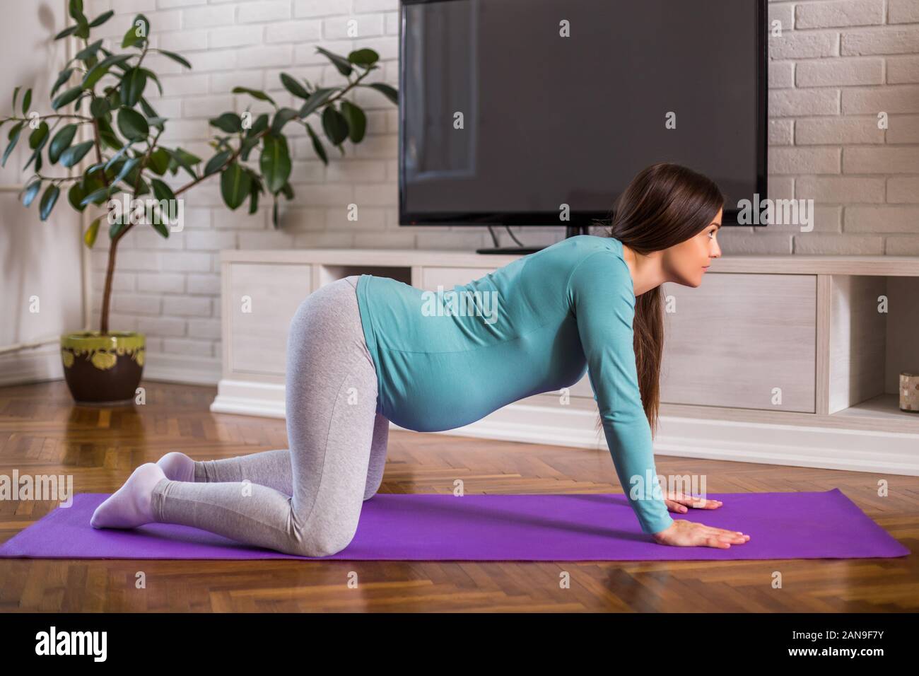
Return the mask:
{"type": "Polygon", "coordinates": [[[389,420],[357,309],[357,275],[326,284],[290,321],[289,450],[195,463],[195,481],[162,479],[153,518],[299,556],[331,556],[354,538],[380,487],[389,420]]]}

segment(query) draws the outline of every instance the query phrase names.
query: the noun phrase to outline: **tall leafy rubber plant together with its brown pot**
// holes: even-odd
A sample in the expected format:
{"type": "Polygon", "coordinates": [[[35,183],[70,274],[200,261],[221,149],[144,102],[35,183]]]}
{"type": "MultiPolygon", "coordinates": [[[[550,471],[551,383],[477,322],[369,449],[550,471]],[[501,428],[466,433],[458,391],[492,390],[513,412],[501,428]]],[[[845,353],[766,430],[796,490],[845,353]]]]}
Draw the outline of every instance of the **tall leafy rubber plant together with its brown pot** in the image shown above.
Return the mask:
{"type": "Polygon", "coordinates": [[[357,86],[369,86],[397,105],[398,96],[391,86],[361,82],[379,68],[377,52],[362,49],[345,57],[317,48],[347,78],[347,84],[312,86],[308,80],[301,82],[289,74],[280,74],[284,88],[302,99],[298,109],[278,106],[263,91],[234,87],[234,94],[262,101],[270,111],[254,115],[246,109],[242,115],[224,112],[211,119],[210,125],[217,130],[210,142],[214,155],[205,161],[181,147],[160,143],[168,120],[159,116],[144,96],[154,86],[163,93],[159,78],[144,63],[149,53],[159,52],[186,68],[191,64],[175,52],[151,47],[150,21],[143,15],[134,18],[119,49],[113,51],[103,47],[103,40],[90,40],[91,30],[106,23],[112,11],[89,20],[83,13],[82,0],[70,0],[69,15],[74,24],[54,39],[73,36],[82,40],[82,49],[64,65],[51,87],[53,112],[42,115],[31,109],[31,89],[21,99],[21,87],[14,90],[13,113],[0,118],[0,128],[11,123],[2,164],[6,166],[20,137],[28,135],[32,154],[23,171],[30,168],[31,176],[20,198],[26,207],[39,202],[41,221],[48,219],[62,192],[66,192],[66,201],[77,212],[104,204],[108,207],[89,223],[83,236],[85,246],[92,247],[99,228],[108,226],[111,242],[100,326],[94,331],[62,335],[61,357],[67,385],[77,403],[130,403],[141,381],[145,341],[141,333],[112,331],[108,327],[112,277],[121,238],[137,224],[150,225],[163,237],[180,232],[176,214],[183,212],[183,204],[179,196],[201,181],[217,177],[222,199],[231,210],[248,201],[249,213],[255,213],[261,196],[270,196],[272,223],[277,228],[279,198],[294,197],[289,183],[291,163],[285,125],[303,125],[316,155],[327,165],[320,132],[308,121],[311,116],[319,117],[317,127],[344,155],[343,143],[360,143],[367,125],[364,111],[346,100],[345,94],[357,86]],[[21,116],[17,114],[17,102],[21,116]],[[69,171],[55,175],[45,168],[54,165],[69,171]],[[187,176],[187,182],[174,189],[164,180],[167,174],[187,176]],[[148,197],[142,200],[143,196],[148,197]]]}

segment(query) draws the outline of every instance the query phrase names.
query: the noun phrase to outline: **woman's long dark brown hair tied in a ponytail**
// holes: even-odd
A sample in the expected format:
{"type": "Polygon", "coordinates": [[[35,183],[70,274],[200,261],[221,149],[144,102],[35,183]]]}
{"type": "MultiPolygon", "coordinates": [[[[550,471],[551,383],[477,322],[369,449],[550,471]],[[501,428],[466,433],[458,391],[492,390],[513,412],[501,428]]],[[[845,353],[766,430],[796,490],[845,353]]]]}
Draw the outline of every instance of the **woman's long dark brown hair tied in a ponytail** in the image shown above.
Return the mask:
{"type": "MultiPolygon", "coordinates": [[[[641,255],[686,241],[704,230],[724,205],[710,178],[692,169],[660,162],[642,169],[616,201],[607,232],[641,255]]],[[[657,286],[635,298],[632,325],[641,405],[657,431],[664,354],[664,290],[657,286]]],[[[602,426],[597,417],[597,428],[602,426]]]]}

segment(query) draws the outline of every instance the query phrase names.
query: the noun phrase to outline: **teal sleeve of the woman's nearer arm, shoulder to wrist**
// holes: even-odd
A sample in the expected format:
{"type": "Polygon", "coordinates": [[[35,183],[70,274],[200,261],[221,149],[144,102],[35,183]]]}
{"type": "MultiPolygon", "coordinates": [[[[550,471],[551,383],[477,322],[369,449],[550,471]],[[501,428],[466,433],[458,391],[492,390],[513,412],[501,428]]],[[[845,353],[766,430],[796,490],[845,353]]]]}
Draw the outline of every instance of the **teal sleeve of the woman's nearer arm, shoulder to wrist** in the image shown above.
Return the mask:
{"type": "Polygon", "coordinates": [[[667,513],[657,481],[651,426],[641,406],[632,343],[635,296],[629,267],[613,251],[596,251],[572,270],[568,292],[619,483],[641,530],[663,531],[674,520],[667,513]]]}

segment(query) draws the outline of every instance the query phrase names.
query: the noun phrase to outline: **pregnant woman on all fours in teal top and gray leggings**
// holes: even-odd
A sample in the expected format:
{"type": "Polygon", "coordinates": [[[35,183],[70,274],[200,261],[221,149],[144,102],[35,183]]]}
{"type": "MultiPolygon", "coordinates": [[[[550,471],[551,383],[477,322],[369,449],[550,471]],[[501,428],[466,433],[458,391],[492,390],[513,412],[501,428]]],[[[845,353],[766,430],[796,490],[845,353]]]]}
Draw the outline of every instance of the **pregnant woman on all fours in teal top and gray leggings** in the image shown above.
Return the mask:
{"type": "Polygon", "coordinates": [[[495,299],[487,313],[432,312],[429,292],[372,275],[323,286],[290,322],[290,448],[205,461],[167,453],[135,469],[92,525],[180,523],[285,554],[331,556],[351,542],[363,501],[380,487],[390,420],[452,430],[573,385],[586,370],[641,531],[679,546],[747,542],[667,513],[718,501],[664,495],[656,478],[632,489],[657,476],[661,284],[698,287],[720,256],[723,204],[709,178],[649,166],[619,197],[606,236],[569,237],[454,288],[495,299]]]}

